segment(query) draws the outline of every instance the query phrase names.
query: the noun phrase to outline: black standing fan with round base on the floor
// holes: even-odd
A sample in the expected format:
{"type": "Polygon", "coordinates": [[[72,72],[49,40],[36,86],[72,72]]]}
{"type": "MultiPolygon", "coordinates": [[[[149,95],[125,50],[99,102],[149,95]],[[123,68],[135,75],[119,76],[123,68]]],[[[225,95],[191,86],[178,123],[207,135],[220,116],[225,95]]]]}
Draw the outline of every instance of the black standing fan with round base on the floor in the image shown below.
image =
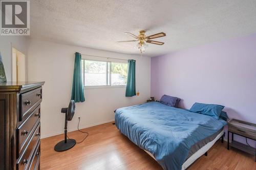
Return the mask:
{"type": "Polygon", "coordinates": [[[57,152],[67,151],[76,144],[75,139],[67,139],[68,121],[72,120],[75,114],[75,108],[76,108],[75,101],[70,100],[69,107],[61,109],[61,113],[65,113],[65,139],[58,142],[55,145],[54,150],[57,152]]]}

